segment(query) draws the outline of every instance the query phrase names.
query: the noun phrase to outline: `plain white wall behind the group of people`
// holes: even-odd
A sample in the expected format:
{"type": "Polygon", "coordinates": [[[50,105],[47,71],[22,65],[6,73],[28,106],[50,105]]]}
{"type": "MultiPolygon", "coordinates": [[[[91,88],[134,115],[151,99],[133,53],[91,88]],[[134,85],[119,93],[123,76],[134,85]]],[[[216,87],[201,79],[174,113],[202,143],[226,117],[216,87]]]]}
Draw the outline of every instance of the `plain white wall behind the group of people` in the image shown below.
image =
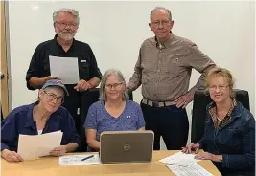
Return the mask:
{"type": "MultiPolygon", "coordinates": [[[[255,115],[254,2],[9,2],[12,108],[30,103],[36,91],[26,87],[25,75],[35,47],[54,37],[52,13],[60,8],[80,12],[76,39],[91,45],[101,71],[119,68],[131,77],[141,43],[153,33],[149,15],[156,6],[173,12],[176,35],[198,44],[218,65],[236,77],[237,88],[250,94],[255,115]]],[[[193,72],[191,84],[199,74],[193,72]]],[[[134,93],[140,101],[140,89],[134,93]]],[[[189,105],[190,114],[192,104],[189,105]]]]}

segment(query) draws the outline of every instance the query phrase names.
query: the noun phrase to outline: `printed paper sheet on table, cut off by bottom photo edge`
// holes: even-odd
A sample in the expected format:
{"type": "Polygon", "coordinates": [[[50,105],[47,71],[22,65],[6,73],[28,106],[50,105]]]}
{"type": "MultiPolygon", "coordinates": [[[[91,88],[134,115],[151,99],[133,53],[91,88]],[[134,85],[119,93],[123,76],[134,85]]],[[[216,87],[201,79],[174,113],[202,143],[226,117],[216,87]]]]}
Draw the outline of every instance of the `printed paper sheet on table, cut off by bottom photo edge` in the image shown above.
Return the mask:
{"type": "Polygon", "coordinates": [[[176,176],[213,176],[210,172],[204,169],[201,165],[194,163],[188,166],[166,165],[176,176]]]}

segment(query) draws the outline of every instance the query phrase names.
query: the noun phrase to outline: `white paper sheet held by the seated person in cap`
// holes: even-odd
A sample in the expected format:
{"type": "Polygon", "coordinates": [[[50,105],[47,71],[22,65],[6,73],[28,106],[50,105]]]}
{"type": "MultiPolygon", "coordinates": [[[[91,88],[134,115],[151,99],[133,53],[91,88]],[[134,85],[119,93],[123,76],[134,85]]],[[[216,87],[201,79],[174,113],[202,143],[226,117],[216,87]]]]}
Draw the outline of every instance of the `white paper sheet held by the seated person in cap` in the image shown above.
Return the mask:
{"type": "Polygon", "coordinates": [[[50,155],[50,151],[60,146],[62,132],[56,131],[42,135],[19,135],[18,154],[24,160],[50,155]]]}

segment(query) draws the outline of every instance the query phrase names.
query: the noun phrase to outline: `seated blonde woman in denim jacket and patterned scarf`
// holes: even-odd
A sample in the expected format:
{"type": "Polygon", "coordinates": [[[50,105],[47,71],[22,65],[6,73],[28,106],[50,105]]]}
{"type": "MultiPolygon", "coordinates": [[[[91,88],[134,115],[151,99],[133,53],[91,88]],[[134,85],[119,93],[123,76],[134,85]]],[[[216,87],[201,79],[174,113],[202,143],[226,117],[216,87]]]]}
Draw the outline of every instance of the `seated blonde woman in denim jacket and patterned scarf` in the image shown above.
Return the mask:
{"type": "Polygon", "coordinates": [[[254,175],[254,117],[234,99],[234,80],[228,70],[212,69],[206,82],[213,102],[206,107],[204,135],[182,151],[198,153],[202,148],[205,152],[195,158],[212,160],[222,175],[254,175]]]}

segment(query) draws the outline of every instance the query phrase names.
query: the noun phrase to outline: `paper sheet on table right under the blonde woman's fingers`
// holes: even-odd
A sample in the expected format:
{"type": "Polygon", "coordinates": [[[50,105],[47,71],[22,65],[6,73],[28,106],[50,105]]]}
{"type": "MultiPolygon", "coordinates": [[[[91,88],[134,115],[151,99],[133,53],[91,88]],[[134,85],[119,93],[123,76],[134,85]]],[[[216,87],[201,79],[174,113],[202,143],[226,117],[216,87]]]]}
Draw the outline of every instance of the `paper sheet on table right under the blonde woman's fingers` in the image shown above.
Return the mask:
{"type": "Polygon", "coordinates": [[[197,163],[200,160],[197,160],[194,158],[195,155],[193,154],[185,154],[183,152],[177,152],[174,155],[171,155],[169,157],[166,157],[160,162],[165,163],[165,164],[172,164],[172,165],[181,165],[181,166],[187,166],[187,165],[192,165],[194,163],[197,163]]]}

